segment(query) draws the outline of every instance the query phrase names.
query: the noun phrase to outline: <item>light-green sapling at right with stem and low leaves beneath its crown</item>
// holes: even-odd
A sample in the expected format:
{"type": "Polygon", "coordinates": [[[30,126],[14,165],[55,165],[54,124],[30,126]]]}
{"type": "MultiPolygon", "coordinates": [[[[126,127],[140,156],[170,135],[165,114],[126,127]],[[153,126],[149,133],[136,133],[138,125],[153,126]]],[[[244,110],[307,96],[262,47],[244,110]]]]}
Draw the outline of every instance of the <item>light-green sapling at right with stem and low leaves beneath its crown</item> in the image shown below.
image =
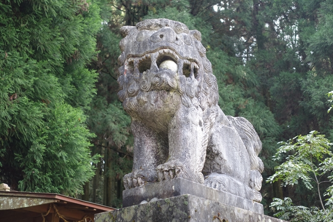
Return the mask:
{"type": "Polygon", "coordinates": [[[266,182],[281,180],[284,186],[294,186],[301,180],[309,190],[314,189],[313,184],[315,184],[322,209],[293,206],[289,197],[286,197],[285,200],[274,198],[270,205],[278,211],[274,216],[290,221],[331,221],[333,215],[333,153],[330,148],[333,144],[317,131],[311,131],[308,135],[300,135],[280,144],[282,146],[278,148],[274,160],[281,160],[285,155],[287,156],[283,163],[275,168],[275,174],[270,176],[266,182]],[[322,201],[320,193],[320,185],[323,183],[331,184],[324,194],[329,197],[326,204],[322,201]]]}

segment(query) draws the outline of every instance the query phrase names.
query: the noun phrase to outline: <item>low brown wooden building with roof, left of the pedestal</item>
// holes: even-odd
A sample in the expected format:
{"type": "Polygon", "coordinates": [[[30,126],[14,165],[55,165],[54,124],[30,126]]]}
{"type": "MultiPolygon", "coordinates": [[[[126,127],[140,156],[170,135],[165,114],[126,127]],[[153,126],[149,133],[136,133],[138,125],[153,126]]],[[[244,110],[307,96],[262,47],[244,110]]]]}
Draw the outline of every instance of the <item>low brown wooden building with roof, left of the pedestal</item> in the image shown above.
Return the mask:
{"type": "Polygon", "coordinates": [[[89,222],[115,209],[60,194],[0,191],[1,221],[89,222]]]}

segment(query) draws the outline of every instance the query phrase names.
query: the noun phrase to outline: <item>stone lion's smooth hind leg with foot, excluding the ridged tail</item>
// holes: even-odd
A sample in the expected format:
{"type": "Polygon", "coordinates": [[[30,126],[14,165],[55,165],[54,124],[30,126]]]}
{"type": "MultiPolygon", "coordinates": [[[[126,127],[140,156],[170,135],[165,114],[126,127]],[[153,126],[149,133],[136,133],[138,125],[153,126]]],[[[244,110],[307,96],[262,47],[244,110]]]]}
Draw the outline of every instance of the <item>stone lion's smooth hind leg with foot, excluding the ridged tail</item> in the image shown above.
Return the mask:
{"type": "Polygon", "coordinates": [[[249,187],[250,161],[242,140],[233,127],[213,127],[204,167],[204,185],[246,199],[253,198],[249,187]]]}

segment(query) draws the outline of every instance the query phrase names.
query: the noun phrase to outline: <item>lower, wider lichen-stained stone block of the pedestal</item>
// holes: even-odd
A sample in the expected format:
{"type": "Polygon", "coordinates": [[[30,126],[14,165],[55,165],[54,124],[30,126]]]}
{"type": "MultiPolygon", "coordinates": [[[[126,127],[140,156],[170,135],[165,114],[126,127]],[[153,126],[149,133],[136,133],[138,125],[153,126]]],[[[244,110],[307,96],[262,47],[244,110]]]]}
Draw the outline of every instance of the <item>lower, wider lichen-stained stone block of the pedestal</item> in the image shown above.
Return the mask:
{"type": "Polygon", "coordinates": [[[202,197],[182,195],[95,214],[95,222],[283,222],[202,197]]]}

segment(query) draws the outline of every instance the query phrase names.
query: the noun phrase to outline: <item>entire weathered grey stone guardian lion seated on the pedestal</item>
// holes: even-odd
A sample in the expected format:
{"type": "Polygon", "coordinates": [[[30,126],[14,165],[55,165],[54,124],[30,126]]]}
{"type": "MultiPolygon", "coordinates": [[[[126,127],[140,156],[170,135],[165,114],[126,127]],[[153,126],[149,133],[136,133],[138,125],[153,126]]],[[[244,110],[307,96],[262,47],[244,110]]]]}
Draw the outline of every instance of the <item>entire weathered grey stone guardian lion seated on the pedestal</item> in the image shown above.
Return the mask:
{"type": "Polygon", "coordinates": [[[120,31],[118,96],[134,135],[125,189],[181,177],[260,202],[262,143],[251,123],[218,106],[201,33],[167,19],[120,31]]]}

